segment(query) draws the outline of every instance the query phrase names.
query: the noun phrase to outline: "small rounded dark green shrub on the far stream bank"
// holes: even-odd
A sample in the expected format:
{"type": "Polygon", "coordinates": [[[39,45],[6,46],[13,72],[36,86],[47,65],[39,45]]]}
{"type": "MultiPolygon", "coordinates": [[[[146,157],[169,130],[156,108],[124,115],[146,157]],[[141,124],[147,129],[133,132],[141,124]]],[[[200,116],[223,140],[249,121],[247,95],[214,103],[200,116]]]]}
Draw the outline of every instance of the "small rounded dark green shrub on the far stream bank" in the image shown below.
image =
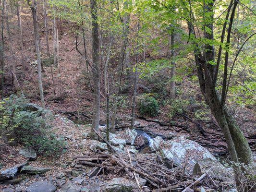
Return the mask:
{"type": "Polygon", "coordinates": [[[159,110],[158,101],[152,96],[142,96],[138,102],[138,110],[140,115],[156,117],[159,110]]]}

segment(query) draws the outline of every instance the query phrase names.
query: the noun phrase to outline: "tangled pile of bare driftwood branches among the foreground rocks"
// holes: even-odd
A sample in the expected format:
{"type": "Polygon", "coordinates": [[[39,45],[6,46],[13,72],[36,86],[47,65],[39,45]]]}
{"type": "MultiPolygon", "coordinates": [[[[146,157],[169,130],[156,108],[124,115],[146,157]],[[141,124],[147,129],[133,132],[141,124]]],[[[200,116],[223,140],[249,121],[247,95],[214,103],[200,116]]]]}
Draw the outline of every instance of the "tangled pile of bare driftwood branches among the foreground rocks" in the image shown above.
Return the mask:
{"type": "Polygon", "coordinates": [[[94,167],[89,177],[99,176],[100,174],[111,174],[124,178],[134,179],[137,184],[138,191],[150,190],[152,192],[179,191],[189,192],[199,190],[196,186],[202,182],[208,188],[216,188],[216,183],[211,180],[207,172],[198,179],[188,178],[184,174],[184,168],[169,169],[164,162],[160,160],[140,160],[135,154],[131,154],[126,149],[126,154],[118,154],[112,146],[98,132],[98,136],[105,141],[111,153],[98,151],[96,155],[85,155],[74,157],[80,164],[94,167]],[[147,181],[146,188],[141,186],[139,178],[147,181]],[[206,180],[207,178],[207,180],[206,180]]]}

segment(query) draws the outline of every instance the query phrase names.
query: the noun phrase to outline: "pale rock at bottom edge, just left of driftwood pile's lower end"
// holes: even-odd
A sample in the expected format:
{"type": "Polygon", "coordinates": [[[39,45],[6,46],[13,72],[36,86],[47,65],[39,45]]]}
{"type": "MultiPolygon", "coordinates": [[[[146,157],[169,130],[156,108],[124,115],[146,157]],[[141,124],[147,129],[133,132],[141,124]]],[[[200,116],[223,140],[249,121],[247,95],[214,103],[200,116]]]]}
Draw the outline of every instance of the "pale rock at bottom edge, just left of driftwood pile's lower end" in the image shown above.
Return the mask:
{"type": "Polygon", "coordinates": [[[107,183],[105,192],[132,192],[133,189],[134,185],[129,180],[114,178],[107,183]]]}

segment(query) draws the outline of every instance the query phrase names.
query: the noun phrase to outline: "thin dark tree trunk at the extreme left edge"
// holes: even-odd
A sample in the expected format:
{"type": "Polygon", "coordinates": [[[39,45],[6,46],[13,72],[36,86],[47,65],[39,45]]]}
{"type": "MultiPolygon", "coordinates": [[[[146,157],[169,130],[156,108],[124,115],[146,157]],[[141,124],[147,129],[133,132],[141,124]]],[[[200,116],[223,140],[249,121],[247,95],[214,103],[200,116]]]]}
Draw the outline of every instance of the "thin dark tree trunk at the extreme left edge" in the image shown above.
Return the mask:
{"type": "Polygon", "coordinates": [[[1,48],[0,48],[0,51],[1,51],[1,66],[2,66],[2,70],[1,70],[1,76],[2,76],[2,81],[1,81],[1,95],[2,95],[2,100],[4,99],[4,37],[3,37],[3,18],[4,18],[4,3],[5,3],[5,0],[2,1],[2,23],[1,23],[1,48]]]}

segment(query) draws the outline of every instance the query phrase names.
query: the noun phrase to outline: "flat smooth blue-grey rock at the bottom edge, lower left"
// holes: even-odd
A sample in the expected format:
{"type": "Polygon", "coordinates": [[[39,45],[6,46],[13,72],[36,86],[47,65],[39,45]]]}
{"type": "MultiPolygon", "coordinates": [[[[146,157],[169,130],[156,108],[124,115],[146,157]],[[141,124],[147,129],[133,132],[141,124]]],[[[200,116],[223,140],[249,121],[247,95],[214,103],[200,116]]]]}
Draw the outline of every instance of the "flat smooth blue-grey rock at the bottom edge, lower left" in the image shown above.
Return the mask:
{"type": "Polygon", "coordinates": [[[47,181],[37,181],[30,185],[26,192],[55,192],[56,187],[47,181]]]}

